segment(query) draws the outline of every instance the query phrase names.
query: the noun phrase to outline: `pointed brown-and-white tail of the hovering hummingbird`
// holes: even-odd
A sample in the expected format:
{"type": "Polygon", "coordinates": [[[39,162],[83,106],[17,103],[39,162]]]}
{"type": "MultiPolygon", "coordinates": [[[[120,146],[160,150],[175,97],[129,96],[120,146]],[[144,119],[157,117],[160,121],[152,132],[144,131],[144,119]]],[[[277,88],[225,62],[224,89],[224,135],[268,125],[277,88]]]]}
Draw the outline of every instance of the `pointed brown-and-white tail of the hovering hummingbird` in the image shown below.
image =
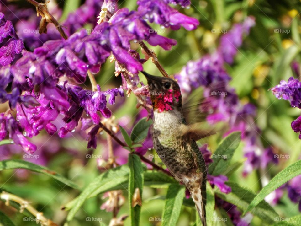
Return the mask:
{"type": "Polygon", "coordinates": [[[206,226],[206,180],[203,177],[187,186],[203,226],[206,226]]]}

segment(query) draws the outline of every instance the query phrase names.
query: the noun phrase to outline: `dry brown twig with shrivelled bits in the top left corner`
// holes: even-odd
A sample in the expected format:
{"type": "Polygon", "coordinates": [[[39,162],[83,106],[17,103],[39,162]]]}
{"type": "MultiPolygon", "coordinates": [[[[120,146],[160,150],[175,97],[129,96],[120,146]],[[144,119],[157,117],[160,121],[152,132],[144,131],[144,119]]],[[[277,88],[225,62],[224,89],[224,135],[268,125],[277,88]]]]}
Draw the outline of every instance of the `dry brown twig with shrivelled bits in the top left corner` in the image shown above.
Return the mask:
{"type": "Polygon", "coordinates": [[[47,33],[47,24],[52,23],[55,25],[56,29],[60,32],[61,36],[64,39],[67,39],[67,35],[65,31],[62,29],[61,24],[57,22],[57,20],[51,15],[47,8],[47,3],[50,1],[47,1],[46,3],[38,3],[34,0],[26,0],[30,4],[34,5],[37,10],[37,16],[41,15],[42,19],[39,26],[39,33],[47,33]]]}

